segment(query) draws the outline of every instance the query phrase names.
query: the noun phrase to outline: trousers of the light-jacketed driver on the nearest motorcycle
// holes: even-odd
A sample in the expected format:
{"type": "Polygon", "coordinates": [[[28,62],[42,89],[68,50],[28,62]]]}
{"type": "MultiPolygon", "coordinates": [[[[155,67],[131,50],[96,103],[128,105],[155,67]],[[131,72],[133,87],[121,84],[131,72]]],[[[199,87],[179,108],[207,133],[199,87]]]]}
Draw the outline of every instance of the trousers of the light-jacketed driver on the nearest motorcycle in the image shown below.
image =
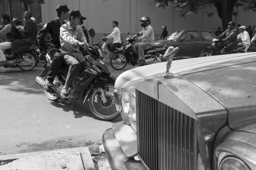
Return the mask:
{"type": "Polygon", "coordinates": [[[80,63],[71,54],[64,54],[63,59],[65,64],[69,66],[65,86],[70,87],[72,84],[75,84],[76,75],[80,69],[80,63]]]}

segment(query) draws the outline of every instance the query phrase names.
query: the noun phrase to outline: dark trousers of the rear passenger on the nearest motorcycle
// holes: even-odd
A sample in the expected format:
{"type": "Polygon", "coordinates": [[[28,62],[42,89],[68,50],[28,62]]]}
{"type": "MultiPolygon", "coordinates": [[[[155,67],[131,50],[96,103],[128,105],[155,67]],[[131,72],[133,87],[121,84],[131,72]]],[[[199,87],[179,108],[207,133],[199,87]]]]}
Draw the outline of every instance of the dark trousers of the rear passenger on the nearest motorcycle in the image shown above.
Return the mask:
{"type": "Polygon", "coordinates": [[[63,57],[61,55],[60,50],[57,48],[50,48],[49,50],[49,56],[52,59],[52,63],[49,68],[47,79],[49,82],[53,83],[54,77],[57,75],[57,71],[61,66],[61,63],[63,61],[63,57]]]}

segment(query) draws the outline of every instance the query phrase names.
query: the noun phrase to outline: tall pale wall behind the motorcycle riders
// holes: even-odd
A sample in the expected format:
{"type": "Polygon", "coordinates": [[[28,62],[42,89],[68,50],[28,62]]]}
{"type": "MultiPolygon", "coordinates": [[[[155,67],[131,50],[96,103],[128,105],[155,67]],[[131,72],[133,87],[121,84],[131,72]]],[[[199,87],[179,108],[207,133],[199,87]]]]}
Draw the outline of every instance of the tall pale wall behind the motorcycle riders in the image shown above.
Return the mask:
{"type": "MultiPolygon", "coordinates": [[[[154,28],[155,39],[162,32],[161,27],[167,26],[168,32],[177,29],[207,29],[216,31],[221,26],[221,19],[218,17],[215,7],[207,7],[199,11],[198,14],[180,17],[180,13],[172,8],[157,9],[154,0],[45,0],[42,4],[42,22],[48,22],[57,17],[57,4],[67,4],[69,9],[79,9],[82,15],[87,17],[84,24],[89,28],[94,28],[96,37],[94,41],[99,41],[103,33],[110,34],[113,30],[112,21],[119,22],[119,29],[122,37],[134,35],[141,30],[142,16],[151,18],[151,26],[154,28]],[[213,17],[207,17],[206,12],[213,11],[213,17]],[[130,34],[128,34],[130,33],[130,34]]],[[[243,12],[242,8],[235,8],[238,17],[234,17],[235,22],[241,25],[252,25],[256,21],[254,12],[243,12]]]]}

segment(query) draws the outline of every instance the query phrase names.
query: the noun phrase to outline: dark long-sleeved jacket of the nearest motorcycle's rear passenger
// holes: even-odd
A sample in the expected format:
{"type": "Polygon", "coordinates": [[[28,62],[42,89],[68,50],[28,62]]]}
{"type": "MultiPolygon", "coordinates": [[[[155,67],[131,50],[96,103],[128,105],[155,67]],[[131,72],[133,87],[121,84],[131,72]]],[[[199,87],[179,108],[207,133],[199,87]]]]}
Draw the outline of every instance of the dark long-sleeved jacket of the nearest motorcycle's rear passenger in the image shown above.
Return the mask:
{"type": "MultiPolygon", "coordinates": [[[[63,22],[65,24],[65,22],[63,22]]],[[[50,36],[50,41],[51,43],[56,47],[60,48],[60,28],[61,28],[61,23],[57,20],[54,19],[50,22],[47,22],[43,28],[38,32],[37,34],[37,40],[41,48],[44,50],[48,49],[49,46],[47,42],[45,41],[45,37],[47,33],[49,33],[50,36]]]]}

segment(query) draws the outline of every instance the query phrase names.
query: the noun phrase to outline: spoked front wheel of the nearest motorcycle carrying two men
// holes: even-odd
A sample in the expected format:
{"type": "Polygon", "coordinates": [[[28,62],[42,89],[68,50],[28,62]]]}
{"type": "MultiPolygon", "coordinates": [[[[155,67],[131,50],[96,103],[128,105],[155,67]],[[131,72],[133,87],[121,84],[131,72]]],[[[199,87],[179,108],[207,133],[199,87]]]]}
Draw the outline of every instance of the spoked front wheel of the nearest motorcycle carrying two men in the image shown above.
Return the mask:
{"type": "Polygon", "coordinates": [[[119,117],[120,112],[118,112],[115,108],[113,95],[114,90],[114,84],[105,84],[104,92],[107,100],[106,103],[103,103],[100,87],[91,93],[89,98],[89,108],[93,113],[93,116],[104,121],[110,121],[119,117]]]}

